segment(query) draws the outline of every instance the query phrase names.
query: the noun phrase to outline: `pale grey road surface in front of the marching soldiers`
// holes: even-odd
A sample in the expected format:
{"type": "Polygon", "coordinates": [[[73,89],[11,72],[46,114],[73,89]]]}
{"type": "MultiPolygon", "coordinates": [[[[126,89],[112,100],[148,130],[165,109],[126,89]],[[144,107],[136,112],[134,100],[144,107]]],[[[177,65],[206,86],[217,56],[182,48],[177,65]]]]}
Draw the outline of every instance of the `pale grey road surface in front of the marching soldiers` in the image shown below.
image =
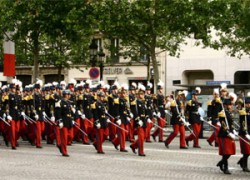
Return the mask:
{"type": "MultiPolygon", "coordinates": [[[[229,159],[232,175],[224,175],[216,167],[221,159],[218,150],[200,139],[201,149],[179,149],[179,138],[169,149],[163,143],[145,143],[146,157],[117,151],[106,141],[105,154],[97,154],[92,145],[75,143],[68,147],[70,157],[62,157],[53,145],[43,142],[37,149],[19,141],[17,150],[5,147],[0,140],[0,179],[250,179],[237,165],[241,157],[239,143],[237,154],[229,159]]],[[[190,143],[192,146],[192,143],[190,143]]],[[[249,160],[250,161],[250,160],[249,160]]]]}

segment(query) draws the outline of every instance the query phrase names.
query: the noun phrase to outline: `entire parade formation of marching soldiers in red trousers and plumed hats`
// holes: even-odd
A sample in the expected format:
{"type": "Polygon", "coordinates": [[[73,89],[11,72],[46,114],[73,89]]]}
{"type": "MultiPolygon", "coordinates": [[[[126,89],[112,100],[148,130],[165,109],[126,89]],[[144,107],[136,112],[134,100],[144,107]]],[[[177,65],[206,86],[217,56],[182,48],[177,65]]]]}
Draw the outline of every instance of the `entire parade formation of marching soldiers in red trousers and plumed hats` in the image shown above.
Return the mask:
{"type": "Polygon", "coordinates": [[[161,142],[170,148],[179,135],[180,149],[201,148],[199,135],[202,123],[213,128],[208,137],[210,146],[218,147],[222,159],[217,166],[224,174],[231,174],[228,159],[236,153],[239,139],[242,158],[238,164],[244,172],[248,169],[250,154],[250,94],[229,93],[226,84],[213,91],[213,99],[207,103],[207,115],[201,116],[199,87],[187,91],[163,94],[164,84],[141,83],[93,85],[90,79],[79,83],[72,79],[43,84],[41,80],[22,87],[13,79],[0,86],[0,133],[7,147],[16,150],[18,140],[28,141],[42,148],[42,140],[55,145],[62,156],[68,157],[67,146],[72,143],[93,145],[98,154],[105,154],[103,143],[110,141],[116,150],[146,156],[146,143],[161,142]],[[234,115],[238,114],[236,121],[234,115]],[[167,118],[170,118],[169,121],[167,118]],[[170,122],[173,131],[164,139],[164,131],[170,122]],[[186,134],[189,132],[190,134],[186,134]]]}

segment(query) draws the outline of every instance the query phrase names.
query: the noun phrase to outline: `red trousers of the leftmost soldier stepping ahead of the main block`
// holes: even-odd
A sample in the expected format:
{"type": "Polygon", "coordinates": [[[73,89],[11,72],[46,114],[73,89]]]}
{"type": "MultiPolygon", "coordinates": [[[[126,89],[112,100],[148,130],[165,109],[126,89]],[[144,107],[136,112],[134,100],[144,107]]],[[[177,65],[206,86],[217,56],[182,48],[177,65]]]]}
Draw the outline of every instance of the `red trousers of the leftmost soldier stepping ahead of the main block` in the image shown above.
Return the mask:
{"type": "Polygon", "coordinates": [[[72,139],[73,139],[73,128],[63,127],[61,129],[61,150],[63,155],[68,154],[67,144],[72,139]]]}

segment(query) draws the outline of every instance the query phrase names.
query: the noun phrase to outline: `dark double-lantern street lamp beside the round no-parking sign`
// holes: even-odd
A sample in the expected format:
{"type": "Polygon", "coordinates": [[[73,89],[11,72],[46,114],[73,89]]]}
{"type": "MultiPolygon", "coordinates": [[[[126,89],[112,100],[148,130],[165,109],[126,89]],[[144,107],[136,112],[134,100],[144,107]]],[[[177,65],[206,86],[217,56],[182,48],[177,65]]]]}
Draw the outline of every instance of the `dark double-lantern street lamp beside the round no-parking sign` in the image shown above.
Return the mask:
{"type": "Polygon", "coordinates": [[[104,69],[104,57],[105,53],[101,48],[99,52],[97,52],[98,45],[95,43],[95,40],[92,39],[91,44],[89,45],[89,52],[90,52],[90,62],[91,66],[95,67],[97,62],[97,55],[98,55],[98,63],[100,68],[100,81],[103,80],[103,69],[104,69]]]}

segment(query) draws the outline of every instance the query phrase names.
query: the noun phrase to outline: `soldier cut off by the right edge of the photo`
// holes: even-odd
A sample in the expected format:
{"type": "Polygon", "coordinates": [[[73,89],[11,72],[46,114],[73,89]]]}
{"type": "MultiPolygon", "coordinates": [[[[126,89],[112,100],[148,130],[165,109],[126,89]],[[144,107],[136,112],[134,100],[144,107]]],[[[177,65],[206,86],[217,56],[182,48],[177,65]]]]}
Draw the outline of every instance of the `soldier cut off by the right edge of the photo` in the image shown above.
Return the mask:
{"type": "MultiPolygon", "coordinates": [[[[250,95],[250,94],[249,94],[250,95]]],[[[238,164],[244,172],[250,172],[248,169],[248,157],[250,155],[250,96],[243,99],[243,108],[239,110],[240,115],[240,149],[242,158],[238,161],[238,164]],[[244,139],[244,140],[243,140],[244,139]],[[245,141],[245,142],[244,142],[245,141]],[[246,143],[248,142],[248,144],[246,143]]]]}

